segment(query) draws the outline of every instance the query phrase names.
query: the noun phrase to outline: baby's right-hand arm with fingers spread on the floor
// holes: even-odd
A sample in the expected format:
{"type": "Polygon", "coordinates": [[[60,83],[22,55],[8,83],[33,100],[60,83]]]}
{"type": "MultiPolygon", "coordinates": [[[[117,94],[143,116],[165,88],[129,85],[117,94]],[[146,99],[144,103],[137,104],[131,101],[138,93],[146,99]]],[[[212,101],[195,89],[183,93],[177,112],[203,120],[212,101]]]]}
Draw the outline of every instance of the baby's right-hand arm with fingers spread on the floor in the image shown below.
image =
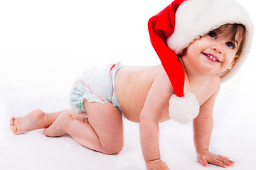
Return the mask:
{"type": "Polygon", "coordinates": [[[209,152],[210,135],[213,130],[213,106],[219,89],[218,87],[215,94],[200,107],[198,117],[193,120],[193,136],[197,159],[203,166],[208,166],[210,163],[227,168],[233,166],[234,162],[227,157],[209,152]]]}

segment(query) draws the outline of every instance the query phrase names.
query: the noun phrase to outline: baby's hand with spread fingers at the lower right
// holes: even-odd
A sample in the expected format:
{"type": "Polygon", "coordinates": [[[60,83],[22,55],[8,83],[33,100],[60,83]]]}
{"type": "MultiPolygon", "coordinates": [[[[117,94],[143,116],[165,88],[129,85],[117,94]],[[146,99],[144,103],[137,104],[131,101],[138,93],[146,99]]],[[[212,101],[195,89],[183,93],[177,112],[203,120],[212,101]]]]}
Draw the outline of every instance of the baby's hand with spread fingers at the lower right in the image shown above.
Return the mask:
{"type": "Polygon", "coordinates": [[[223,168],[228,168],[228,166],[233,166],[234,162],[231,161],[228,157],[222,155],[217,155],[209,152],[208,150],[201,150],[197,153],[198,162],[205,167],[208,166],[208,163],[214,164],[223,168]]]}

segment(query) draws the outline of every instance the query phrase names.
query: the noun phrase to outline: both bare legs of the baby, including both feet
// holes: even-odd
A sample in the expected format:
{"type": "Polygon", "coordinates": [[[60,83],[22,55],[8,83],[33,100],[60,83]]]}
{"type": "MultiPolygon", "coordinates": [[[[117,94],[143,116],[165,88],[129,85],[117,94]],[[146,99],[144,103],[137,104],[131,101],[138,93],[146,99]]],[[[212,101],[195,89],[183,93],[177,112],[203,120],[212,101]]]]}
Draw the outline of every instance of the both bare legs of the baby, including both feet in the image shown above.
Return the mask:
{"type": "Polygon", "coordinates": [[[88,119],[80,118],[73,111],[43,113],[35,110],[19,118],[11,118],[10,127],[14,134],[44,128],[48,137],[65,134],[81,145],[104,154],[116,154],[122,150],[122,115],[112,103],[89,103],[84,101],[88,119]],[[102,117],[99,120],[99,117],[102,117]]]}

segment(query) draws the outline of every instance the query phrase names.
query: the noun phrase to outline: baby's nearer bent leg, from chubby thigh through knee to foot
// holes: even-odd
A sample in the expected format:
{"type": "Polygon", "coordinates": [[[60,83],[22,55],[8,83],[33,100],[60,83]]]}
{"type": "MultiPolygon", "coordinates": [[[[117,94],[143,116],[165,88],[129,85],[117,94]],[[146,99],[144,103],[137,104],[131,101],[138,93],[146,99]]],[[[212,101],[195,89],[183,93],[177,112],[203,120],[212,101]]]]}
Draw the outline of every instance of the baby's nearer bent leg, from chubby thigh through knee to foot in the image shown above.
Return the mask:
{"type": "Polygon", "coordinates": [[[73,119],[65,112],[44,133],[48,136],[68,134],[81,145],[105,154],[116,154],[124,143],[122,115],[112,103],[89,103],[85,100],[88,122],[73,119]]]}

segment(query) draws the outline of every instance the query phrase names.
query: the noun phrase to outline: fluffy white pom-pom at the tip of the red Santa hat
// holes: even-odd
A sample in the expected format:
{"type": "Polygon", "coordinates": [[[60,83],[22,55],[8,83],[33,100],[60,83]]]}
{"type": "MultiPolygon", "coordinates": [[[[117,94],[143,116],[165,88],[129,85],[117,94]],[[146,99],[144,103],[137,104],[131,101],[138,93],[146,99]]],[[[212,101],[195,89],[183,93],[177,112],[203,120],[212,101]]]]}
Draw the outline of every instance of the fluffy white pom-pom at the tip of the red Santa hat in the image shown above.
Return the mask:
{"type": "Polygon", "coordinates": [[[178,123],[189,123],[199,113],[199,103],[196,96],[190,92],[184,97],[171,96],[169,100],[169,115],[178,123]]]}

